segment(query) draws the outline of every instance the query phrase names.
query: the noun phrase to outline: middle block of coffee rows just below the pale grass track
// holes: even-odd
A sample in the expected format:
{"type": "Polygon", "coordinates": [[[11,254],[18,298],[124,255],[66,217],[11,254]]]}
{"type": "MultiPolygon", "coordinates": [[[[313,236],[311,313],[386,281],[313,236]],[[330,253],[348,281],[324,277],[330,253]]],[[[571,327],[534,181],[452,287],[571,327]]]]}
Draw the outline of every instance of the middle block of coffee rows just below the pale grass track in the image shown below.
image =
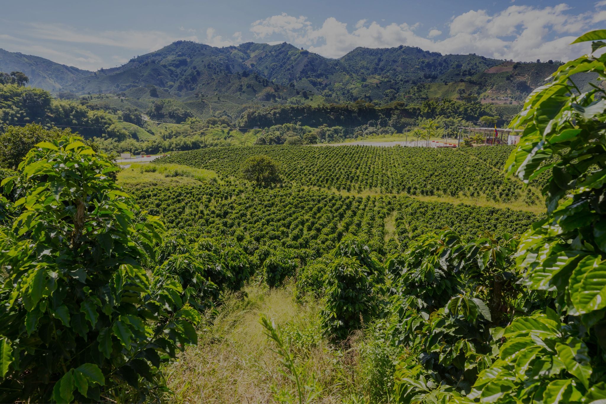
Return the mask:
{"type": "Polygon", "coordinates": [[[187,229],[195,238],[233,239],[251,253],[262,245],[280,245],[321,256],[351,234],[384,256],[420,234],[445,227],[466,236],[484,231],[521,234],[537,219],[525,211],[422,202],[407,196],[341,196],[302,187],[259,190],[245,184],[208,184],[138,187],[133,194],[168,227],[187,229]],[[396,233],[385,237],[391,214],[396,233]]]}

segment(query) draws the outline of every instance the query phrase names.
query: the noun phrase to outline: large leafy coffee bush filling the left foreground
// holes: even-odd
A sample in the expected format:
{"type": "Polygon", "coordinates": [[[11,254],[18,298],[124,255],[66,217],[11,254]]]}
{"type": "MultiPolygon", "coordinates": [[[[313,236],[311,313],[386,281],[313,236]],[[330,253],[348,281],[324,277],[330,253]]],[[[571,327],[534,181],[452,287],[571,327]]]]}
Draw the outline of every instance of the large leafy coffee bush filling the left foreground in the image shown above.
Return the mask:
{"type": "Polygon", "coordinates": [[[132,400],[165,391],[159,366],[196,343],[181,284],[150,286],[162,228],[79,138],[41,142],[2,181],[17,218],[0,231],[0,400],[132,400]],[[61,207],[61,208],[59,208],[61,207]]]}

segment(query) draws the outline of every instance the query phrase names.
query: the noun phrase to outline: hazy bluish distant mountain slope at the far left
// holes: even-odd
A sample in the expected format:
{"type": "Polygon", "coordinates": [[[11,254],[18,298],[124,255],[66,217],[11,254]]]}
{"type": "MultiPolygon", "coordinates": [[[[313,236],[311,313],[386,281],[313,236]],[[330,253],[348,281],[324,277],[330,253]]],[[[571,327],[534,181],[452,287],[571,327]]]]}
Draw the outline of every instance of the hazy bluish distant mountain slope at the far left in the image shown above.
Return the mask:
{"type": "Polygon", "coordinates": [[[61,90],[66,85],[73,84],[78,79],[93,74],[92,71],[58,64],[39,56],[9,52],[1,48],[0,71],[7,71],[8,73],[22,71],[30,79],[30,86],[44,88],[48,91],[61,90]]]}

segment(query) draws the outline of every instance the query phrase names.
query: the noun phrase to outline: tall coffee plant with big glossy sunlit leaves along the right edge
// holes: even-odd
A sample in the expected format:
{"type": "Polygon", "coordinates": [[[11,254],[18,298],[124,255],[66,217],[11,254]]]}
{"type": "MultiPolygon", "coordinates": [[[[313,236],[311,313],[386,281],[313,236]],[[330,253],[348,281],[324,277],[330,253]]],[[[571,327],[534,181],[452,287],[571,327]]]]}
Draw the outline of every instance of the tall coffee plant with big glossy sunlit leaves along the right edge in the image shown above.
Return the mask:
{"type": "MultiPolygon", "coordinates": [[[[603,32],[594,31],[578,41],[603,38],[603,32]]],[[[505,328],[499,359],[479,375],[471,399],[606,398],[601,337],[606,329],[601,231],[606,104],[601,88],[581,93],[572,77],[592,71],[606,78],[605,63],[606,56],[583,56],[562,65],[511,123],[525,129],[509,170],[526,183],[551,171],[543,188],[547,218],[522,235],[516,264],[527,271],[528,288],[549,291],[554,301],[545,314],[519,317],[505,328]]]]}

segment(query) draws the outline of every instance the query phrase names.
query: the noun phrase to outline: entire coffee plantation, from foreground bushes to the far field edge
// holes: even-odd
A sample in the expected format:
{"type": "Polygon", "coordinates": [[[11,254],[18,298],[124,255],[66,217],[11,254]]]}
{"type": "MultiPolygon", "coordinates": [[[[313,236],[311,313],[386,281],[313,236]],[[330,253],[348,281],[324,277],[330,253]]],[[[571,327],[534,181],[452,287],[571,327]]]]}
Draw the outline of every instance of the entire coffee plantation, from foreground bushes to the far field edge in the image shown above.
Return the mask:
{"type": "Polygon", "coordinates": [[[154,164],[218,180],[121,187],[39,142],[0,172],[0,401],[606,402],[606,93],[579,71],[606,54],[530,94],[516,147],[206,148],[154,164]]]}

